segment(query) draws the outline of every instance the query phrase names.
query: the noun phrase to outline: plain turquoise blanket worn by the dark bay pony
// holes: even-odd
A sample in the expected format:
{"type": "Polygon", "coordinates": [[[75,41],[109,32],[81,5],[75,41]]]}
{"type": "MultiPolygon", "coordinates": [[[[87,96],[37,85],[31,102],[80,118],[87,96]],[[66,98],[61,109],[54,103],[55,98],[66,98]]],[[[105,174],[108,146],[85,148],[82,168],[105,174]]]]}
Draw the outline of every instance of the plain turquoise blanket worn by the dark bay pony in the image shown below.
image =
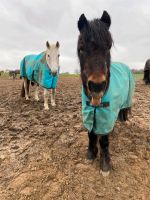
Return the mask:
{"type": "Polygon", "coordinates": [[[108,107],[93,107],[82,87],[82,115],[85,128],[98,135],[109,134],[115,125],[119,111],[132,106],[135,81],[132,72],[122,63],[112,63],[110,67],[110,84],[102,103],[108,107]]]}

